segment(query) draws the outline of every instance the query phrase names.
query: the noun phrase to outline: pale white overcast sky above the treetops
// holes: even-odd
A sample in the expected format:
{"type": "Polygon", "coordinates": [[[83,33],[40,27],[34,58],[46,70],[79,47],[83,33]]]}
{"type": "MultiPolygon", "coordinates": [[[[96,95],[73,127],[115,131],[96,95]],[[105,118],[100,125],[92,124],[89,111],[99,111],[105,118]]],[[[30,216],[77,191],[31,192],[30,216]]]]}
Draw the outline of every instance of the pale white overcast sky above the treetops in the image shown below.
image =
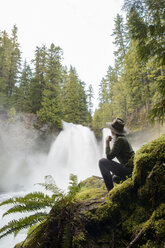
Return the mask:
{"type": "Polygon", "coordinates": [[[114,66],[114,18],[124,0],[1,0],[0,31],[18,27],[22,58],[30,63],[37,46],[60,46],[63,65],[74,66],[79,78],[98,89],[108,66],[114,66]]]}

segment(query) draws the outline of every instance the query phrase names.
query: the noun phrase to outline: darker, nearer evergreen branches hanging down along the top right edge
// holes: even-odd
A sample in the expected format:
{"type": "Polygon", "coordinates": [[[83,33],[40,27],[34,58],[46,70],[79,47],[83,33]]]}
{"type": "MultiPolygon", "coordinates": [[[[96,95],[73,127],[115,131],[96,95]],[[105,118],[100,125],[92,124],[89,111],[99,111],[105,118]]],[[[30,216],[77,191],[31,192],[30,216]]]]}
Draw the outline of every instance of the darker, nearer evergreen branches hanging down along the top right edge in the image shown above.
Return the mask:
{"type": "Polygon", "coordinates": [[[132,39],[137,41],[137,51],[143,61],[156,58],[159,63],[157,88],[159,97],[151,110],[151,118],[164,120],[165,116],[165,3],[164,0],[125,0],[128,27],[132,39]]]}

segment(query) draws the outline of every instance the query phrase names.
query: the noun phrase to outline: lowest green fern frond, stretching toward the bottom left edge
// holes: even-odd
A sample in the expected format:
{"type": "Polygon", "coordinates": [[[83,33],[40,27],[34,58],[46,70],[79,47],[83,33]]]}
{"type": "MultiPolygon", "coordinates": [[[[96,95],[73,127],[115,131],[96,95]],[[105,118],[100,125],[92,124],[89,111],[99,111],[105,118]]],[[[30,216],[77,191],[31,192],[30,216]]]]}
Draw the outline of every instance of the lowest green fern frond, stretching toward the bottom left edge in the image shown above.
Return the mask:
{"type": "Polygon", "coordinates": [[[47,213],[36,213],[25,218],[20,218],[19,220],[12,220],[7,225],[0,229],[0,239],[7,236],[10,233],[17,235],[20,230],[28,228],[47,217],[47,213]],[[1,234],[2,233],[2,234],[1,234]]]}

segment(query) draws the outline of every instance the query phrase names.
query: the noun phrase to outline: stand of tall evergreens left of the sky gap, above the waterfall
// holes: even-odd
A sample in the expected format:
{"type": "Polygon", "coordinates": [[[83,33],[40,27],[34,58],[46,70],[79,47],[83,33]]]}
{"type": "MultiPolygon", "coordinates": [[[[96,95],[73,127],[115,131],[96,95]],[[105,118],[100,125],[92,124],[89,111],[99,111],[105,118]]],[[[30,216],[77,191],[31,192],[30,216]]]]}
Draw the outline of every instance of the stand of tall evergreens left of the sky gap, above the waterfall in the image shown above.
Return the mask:
{"type": "Polygon", "coordinates": [[[63,51],[53,43],[36,47],[31,64],[21,65],[17,27],[9,37],[0,32],[0,113],[37,114],[39,125],[60,130],[62,120],[89,125],[92,120],[92,88],[85,89],[76,70],[62,65],[63,51]],[[88,99],[87,99],[88,98],[88,99]],[[74,113],[72,113],[74,112],[74,113]]]}

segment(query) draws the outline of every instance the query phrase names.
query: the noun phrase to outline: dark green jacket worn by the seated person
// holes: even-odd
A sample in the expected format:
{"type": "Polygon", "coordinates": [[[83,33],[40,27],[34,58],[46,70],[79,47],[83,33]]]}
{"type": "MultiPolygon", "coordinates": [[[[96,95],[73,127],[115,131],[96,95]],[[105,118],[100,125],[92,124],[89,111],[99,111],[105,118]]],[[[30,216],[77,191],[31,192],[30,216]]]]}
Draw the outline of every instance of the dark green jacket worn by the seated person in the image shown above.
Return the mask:
{"type": "Polygon", "coordinates": [[[135,153],[125,136],[117,136],[112,149],[106,148],[106,155],[110,160],[116,157],[121,164],[133,167],[135,153]]]}

